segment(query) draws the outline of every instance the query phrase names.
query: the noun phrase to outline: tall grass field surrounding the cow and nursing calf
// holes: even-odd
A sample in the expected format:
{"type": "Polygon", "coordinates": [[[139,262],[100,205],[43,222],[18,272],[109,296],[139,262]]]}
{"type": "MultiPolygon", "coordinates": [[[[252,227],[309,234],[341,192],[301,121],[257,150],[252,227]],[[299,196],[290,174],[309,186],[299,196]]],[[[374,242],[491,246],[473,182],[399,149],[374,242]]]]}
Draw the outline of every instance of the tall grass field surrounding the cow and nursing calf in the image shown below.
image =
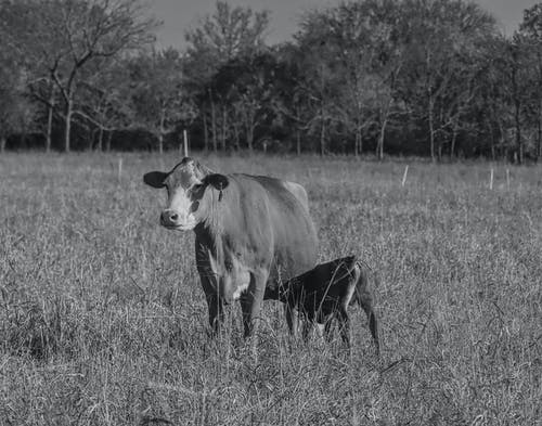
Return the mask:
{"type": "Polygon", "coordinates": [[[359,308],[348,354],[270,301],[256,363],[143,185],[177,153],[118,158],[0,157],[0,425],[542,424],[542,168],[203,158],[306,185],[321,260],[379,276],[382,362],[359,308]]]}

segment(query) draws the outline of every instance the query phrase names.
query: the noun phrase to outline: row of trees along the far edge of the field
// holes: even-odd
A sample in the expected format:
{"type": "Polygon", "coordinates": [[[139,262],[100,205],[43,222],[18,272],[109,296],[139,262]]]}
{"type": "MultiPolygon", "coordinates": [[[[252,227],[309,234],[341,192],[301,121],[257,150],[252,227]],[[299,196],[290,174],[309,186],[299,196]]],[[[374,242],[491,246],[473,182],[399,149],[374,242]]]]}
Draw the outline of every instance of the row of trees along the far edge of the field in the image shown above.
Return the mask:
{"type": "Polygon", "coordinates": [[[270,18],[217,1],[160,50],[139,0],[0,0],[0,150],[542,156],[542,3],[512,36],[465,0],[270,18]]]}

